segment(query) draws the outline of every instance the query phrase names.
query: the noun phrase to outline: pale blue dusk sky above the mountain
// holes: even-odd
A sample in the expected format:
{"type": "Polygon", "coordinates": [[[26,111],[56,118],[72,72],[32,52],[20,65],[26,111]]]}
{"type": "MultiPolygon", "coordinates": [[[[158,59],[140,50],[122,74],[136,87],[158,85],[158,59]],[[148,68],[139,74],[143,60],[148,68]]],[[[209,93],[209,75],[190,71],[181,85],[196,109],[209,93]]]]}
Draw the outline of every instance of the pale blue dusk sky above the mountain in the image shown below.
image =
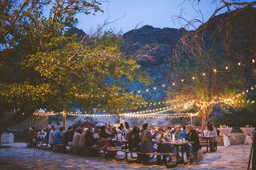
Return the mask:
{"type": "MultiPolygon", "coordinates": [[[[199,16],[199,13],[193,10],[191,2],[180,5],[181,0],[109,0],[109,3],[102,3],[101,8],[104,13],[96,13],[96,16],[85,16],[84,14],[78,15],[80,21],[77,26],[85,32],[91,28],[96,29],[98,24],[103,24],[105,19],[109,16],[109,22],[115,19],[122,18],[115,24],[111,24],[106,29],[115,29],[125,33],[136,27],[140,22],[139,28],[143,25],[152,25],[155,28],[180,28],[179,23],[173,23],[172,16],[179,15],[180,9],[185,8],[184,17],[192,19],[199,16]]],[[[216,9],[216,4],[212,4],[211,0],[201,1],[196,5],[196,9],[200,9],[205,19],[209,18],[213,11],[216,9]]]]}

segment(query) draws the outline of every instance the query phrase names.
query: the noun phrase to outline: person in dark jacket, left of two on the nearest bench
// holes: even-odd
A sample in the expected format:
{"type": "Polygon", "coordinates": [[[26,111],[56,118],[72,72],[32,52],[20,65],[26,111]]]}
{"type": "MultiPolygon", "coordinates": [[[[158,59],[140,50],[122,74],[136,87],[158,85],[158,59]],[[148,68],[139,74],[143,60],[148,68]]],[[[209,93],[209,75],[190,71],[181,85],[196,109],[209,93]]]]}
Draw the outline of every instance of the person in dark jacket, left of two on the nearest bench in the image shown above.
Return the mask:
{"type": "MultiPolygon", "coordinates": [[[[140,151],[141,143],[140,143],[140,138],[139,138],[139,132],[140,132],[139,127],[134,126],[132,131],[127,134],[129,151],[136,151],[136,152],[140,151]]],[[[142,162],[141,155],[138,154],[137,163],[141,163],[141,162],[142,162]]]]}

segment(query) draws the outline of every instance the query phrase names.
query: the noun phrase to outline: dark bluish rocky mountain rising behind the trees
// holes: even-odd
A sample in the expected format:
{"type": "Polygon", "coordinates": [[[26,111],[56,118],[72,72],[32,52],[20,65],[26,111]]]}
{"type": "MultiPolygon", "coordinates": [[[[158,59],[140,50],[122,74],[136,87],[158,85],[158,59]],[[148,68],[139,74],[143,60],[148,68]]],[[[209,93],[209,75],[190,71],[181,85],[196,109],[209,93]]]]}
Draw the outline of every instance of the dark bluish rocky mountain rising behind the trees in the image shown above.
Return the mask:
{"type": "MultiPolygon", "coordinates": [[[[230,13],[222,13],[216,17],[225,17],[230,15],[230,13]]],[[[249,8],[247,9],[246,13],[241,13],[240,16],[237,16],[238,23],[240,22],[254,22],[256,19],[256,9],[255,8],[249,8]],[[250,14],[250,15],[248,15],[250,14]]],[[[256,25],[256,24],[255,24],[256,25]]],[[[255,26],[256,27],[256,26],[255,26]]],[[[255,30],[254,28],[251,28],[250,30],[242,30],[242,35],[247,35],[247,33],[250,33],[250,39],[255,40],[255,30]],[[253,36],[254,35],[254,36],[253,36]]],[[[207,30],[206,33],[206,43],[211,44],[212,39],[211,35],[212,32],[216,29],[216,25],[212,25],[210,29],[207,30]]],[[[154,50],[148,50],[149,53],[147,55],[151,56],[151,58],[140,58],[137,60],[137,63],[141,65],[141,69],[143,71],[147,71],[149,76],[154,78],[153,84],[150,85],[150,87],[146,87],[139,83],[132,83],[130,84],[129,88],[126,90],[134,91],[135,94],[137,94],[138,90],[140,90],[140,93],[146,101],[163,101],[165,98],[165,91],[167,90],[168,86],[168,74],[170,74],[170,68],[166,64],[166,59],[173,56],[173,45],[176,45],[178,40],[181,38],[182,34],[181,32],[184,30],[184,28],[181,29],[173,29],[173,28],[153,28],[153,26],[150,25],[144,25],[142,28],[135,29],[128,31],[123,34],[123,38],[125,40],[125,49],[124,51],[127,52],[128,55],[133,55],[136,53],[139,49],[141,49],[145,45],[151,44],[151,46],[158,46],[154,50]],[[146,89],[150,88],[153,89],[155,86],[161,86],[165,84],[165,88],[158,88],[156,90],[146,92],[146,89]]],[[[77,37],[81,38],[85,35],[83,30],[79,30],[77,28],[74,28],[70,31],[70,33],[77,33],[77,37]]],[[[247,44],[245,44],[247,45],[247,44]]],[[[206,44],[207,46],[207,44],[206,44]]],[[[221,48],[221,45],[218,44],[217,49],[221,48]]]]}

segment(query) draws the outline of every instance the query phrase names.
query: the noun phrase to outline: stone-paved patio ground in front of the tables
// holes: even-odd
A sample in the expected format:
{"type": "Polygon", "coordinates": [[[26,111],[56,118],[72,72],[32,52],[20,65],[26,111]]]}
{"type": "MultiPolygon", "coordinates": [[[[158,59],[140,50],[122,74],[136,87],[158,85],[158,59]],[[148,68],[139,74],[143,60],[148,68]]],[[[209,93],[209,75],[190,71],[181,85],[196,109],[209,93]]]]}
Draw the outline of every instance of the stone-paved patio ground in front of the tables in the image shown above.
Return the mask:
{"type": "MultiPolygon", "coordinates": [[[[6,144],[5,144],[6,145],[6,144]]],[[[251,145],[219,146],[217,152],[205,153],[204,161],[195,165],[178,165],[172,169],[246,169],[251,145]]],[[[70,153],[38,148],[28,148],[15,143],[10,148],[0,148],[0,169],[166,169],[165,166],[127,164],[100,157],[82,157],[70,153]]]]}

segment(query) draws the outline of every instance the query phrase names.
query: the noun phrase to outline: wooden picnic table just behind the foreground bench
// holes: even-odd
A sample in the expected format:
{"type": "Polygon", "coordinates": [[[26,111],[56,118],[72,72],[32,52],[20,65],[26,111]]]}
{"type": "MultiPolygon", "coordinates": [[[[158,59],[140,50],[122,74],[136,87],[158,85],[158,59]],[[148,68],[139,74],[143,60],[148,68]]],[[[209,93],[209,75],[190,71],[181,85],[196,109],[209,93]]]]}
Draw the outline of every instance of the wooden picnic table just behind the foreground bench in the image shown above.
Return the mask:
{"type": "MultiPolygon", "coordinates": [[[[123,144],[125,144],[125,146],[127,147],[128,145],[128,141],[127,140],[112,140],[112,141],[118,141],[118,142],[122,142],[123,144]]],[[[179,146],[181,146],[181,158],[182,158],[182,164],[186,164],[187,162],[184,161],[184,152],[185,152],[185,145],[186,144],[194,144],[194,142],[192,141],[185,141],[185,142],[168,142],[168,141],[163,141],[163,142],[160,142],[160,141],[153,141],[153,144],[157,144],[158,146],[162,147],[163,145],[173,145],[176,147],[176,158],[177,158],[177,161],[179,161],[179,146]]],[[[158,151],[159,152],[159,149],[158,151]]]]}

